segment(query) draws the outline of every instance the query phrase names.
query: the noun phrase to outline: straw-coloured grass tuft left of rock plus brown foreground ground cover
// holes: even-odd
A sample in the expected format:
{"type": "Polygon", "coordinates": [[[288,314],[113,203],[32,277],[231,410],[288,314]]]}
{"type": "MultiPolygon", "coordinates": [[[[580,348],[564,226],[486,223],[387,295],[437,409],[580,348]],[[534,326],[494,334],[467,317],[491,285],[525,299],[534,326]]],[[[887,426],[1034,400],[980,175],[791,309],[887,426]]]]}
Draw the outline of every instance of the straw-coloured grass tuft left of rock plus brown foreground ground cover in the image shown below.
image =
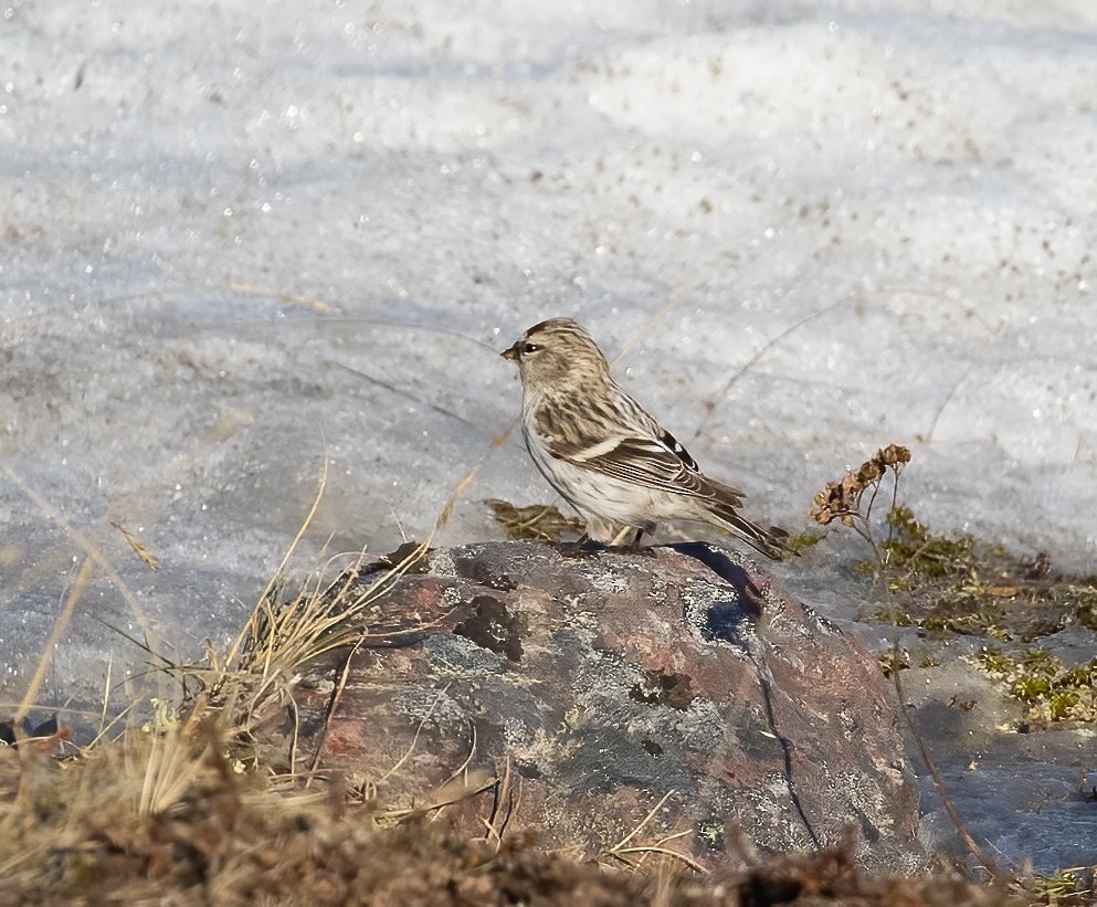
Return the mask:
{"type": "MultiPolygon", "coordinates": [[[[536,516],[517,513],[521,524],[544,525],[536,516]]],[[[381,607],[429,544],[372,565],[360,557],[334,580],[320,570],[292,595],[279,571],[228,651],[194,664],[156,656],[177,695],[155,700],[145,724],[115,736],[77,748],[71,728],[27,723],[29,694],[17,720],[0,727],[0,904],[952,907],[1032,899],[1016,886],[940,876],[866,878],[852,844],[762,857],[745,841],[730,842],[735,855],[709,873],[674,851],[672,839],[648,840],[647,820],[602,854],[547,850],[508,834],[505,821],[470,839],[450,826],[447,809],[505,787],[505,769],[389,803],[378,794],[381,779],[314,783],[323,732],[308,760],[296,752],[296,728],[287,752],[265,752],[256,741],[271,723],[295,720],[295,688],[310,660],[430,631],[429,623],[389,623],[381,607]]],[[[331,690],[329,718],[346,678],[331,690]]]]}

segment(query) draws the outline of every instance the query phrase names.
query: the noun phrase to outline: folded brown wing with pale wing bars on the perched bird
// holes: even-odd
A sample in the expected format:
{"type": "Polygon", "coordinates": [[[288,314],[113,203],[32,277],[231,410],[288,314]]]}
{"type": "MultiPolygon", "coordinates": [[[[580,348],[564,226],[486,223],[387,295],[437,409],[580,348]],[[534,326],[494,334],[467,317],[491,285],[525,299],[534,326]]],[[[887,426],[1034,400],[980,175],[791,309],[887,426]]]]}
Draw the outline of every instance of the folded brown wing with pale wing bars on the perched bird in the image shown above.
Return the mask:
{"type": "Polygon", "coordinates": [[[639,403],[623,397],[622,405],[627,409],[613,413],[616,418],[582,420],[584,428],[590,426],[584,432],[577,431],[573,421],[568,426],[571,431],[561,433],[566,436],[545,437],[549,453],[572,465],[648,488],[718,499],[732,507],[740,505],[742,492],[706,478],[689,452],[639,403]],[[594,425],[604,433],[594,436],[594,425]]]}

